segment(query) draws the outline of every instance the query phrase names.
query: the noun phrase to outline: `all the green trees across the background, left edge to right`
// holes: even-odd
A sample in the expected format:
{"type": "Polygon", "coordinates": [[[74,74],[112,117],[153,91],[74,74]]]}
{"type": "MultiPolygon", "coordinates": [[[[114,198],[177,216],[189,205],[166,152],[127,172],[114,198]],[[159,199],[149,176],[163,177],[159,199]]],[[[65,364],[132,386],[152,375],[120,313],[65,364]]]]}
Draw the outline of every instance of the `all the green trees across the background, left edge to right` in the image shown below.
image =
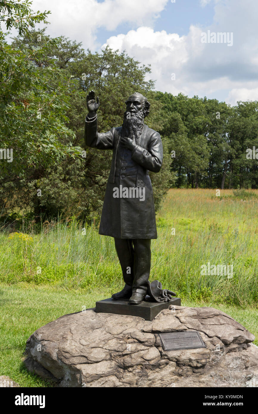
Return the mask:
{"type": "Polygon", "coordinates": [[[216,99],[173,96],[146,81],[150,65],[106,47],[85,51],[81,43],[46,29],[48,12],[33,15],[30,2],[0,2],[0,209],[33,217],[101,212],[111,152],[84,147],[86,96],[101,106],[99,132],[120,126],[125,99],[147,96],[146,123],[164,147],[159,174],[150,173],[156,208],[168,188],[258,188],[258,102],[229,106],[216,99]],[[7,43],[8,29],[19,36],[7,43]],[[12,149],[12,162],[5,159],[12,149]],[[254,149],[254,154],[256,154],[254,149]],[[253,154],[252,153],[252,154],[253,154]]]}

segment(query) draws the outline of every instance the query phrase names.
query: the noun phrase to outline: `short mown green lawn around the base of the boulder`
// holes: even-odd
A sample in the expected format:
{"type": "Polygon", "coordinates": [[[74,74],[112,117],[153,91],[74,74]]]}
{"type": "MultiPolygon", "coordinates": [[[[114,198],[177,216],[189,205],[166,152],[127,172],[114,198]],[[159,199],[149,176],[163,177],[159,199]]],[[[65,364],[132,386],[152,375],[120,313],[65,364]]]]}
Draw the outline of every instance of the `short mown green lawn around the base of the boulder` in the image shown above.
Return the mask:
{"type": "MultiPolygon", "coordinates": [[[[66,291],[55,286],[20,283],[0,284],[0,375],[9,375],[22,387],[49,387],[51,384],[29,373],[23,365],[25,344],[39,327],[62,315],[95,306],[95,301],[110,295],[109,290],[66,291]]],[[[183,300],[183,306],[213,306],[203,301],[183,300]]],[[[219,304],[216,308],[229,314],[258,338],[256,308],[240,309],[219,304]]],[[[258,344],[258,341],[255,341],[258,344]]]]}

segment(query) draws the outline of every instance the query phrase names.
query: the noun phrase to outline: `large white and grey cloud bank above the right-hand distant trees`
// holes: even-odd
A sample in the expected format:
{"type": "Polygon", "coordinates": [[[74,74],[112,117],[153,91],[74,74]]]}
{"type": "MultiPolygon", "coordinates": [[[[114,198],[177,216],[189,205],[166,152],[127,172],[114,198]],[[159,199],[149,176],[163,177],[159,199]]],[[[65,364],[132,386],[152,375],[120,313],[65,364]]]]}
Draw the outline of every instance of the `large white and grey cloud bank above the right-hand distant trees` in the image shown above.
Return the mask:
{"type": "Polygon", "coordinates": [[[190,26],[187,36],[154,31],[141,26],[127,34],[111,36],[111,48],[126,50],[147,65],[151,63],[156,89],[189,96],[207,96],[234,104],[258,99],[258,3],[256,0],[216,0],[214,23],[206,28],[190,26]],[[250,12],[252,10],[252,12],[250,12]],[[207,30],[233,32],[233,46],[201,43],[207,30]],[[176,79],[171,80],[171,73],[176,79]]]}

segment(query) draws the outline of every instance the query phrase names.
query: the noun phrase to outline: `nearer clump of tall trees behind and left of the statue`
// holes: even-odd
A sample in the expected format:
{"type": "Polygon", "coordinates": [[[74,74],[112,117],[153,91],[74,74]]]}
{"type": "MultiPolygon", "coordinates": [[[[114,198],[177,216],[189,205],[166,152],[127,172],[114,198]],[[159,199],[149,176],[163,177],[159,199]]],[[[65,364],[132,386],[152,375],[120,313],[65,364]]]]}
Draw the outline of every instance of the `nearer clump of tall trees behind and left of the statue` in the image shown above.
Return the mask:
{"type": "MultiPolygon", "coordinates": [[[[2,57],[9,53],[9,60],[2,60],[2,147],[13,148],[14,161],[2,163],[0,207],[33,211],[38,220],[100,215],[112,154],[86,148],[81,156],[87,91],[95,89],[101,101],[99,131],[122,124],[124,101],[135,90],[149,94],[149,126],[159,130],[153,82],[145,81],[150,68],[108,47],[101,54],[85,53],[80,43],[51,39],[45,29],[2,46],[2,57]]],[[[167,146],[164,138],[162,171],[151,174],[156,208],[174,183],[167,146]]]]}

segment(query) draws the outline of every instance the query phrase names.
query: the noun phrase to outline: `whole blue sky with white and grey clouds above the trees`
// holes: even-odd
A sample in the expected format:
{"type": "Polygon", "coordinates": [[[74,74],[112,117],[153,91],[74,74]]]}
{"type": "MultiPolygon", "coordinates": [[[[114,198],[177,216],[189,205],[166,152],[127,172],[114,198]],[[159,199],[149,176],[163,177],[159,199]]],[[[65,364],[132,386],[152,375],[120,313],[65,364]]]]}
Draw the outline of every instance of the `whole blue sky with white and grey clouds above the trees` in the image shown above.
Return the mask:
{"type": "Polygon", "coordinates": [[[51,36],[150,64],[156,90],[258,100],[257,0],[32,0],[32,8],[51,10],[51,36]]]}

